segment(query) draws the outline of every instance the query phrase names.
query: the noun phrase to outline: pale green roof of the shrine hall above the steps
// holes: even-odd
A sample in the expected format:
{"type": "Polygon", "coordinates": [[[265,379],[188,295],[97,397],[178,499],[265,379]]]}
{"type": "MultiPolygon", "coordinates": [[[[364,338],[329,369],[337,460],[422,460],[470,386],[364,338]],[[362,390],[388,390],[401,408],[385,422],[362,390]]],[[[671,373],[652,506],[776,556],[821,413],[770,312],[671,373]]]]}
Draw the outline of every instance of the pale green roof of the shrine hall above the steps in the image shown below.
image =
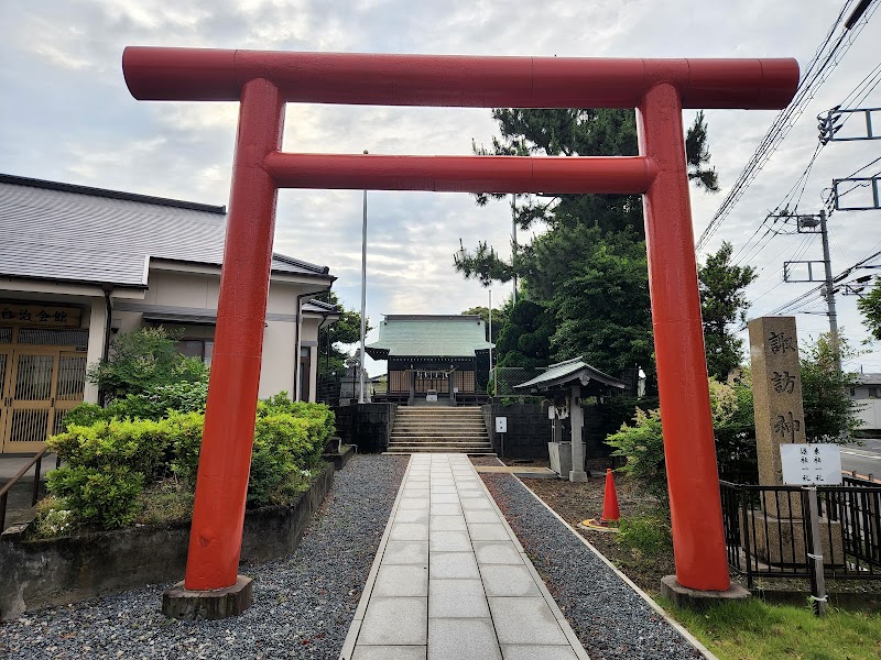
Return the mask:
{"type": "Polygon", "coordinates": [[[479,316],[385,315],[379,324],[379,340],[366,349],[376,360],[474,358],[492,345],[479,316]]]}

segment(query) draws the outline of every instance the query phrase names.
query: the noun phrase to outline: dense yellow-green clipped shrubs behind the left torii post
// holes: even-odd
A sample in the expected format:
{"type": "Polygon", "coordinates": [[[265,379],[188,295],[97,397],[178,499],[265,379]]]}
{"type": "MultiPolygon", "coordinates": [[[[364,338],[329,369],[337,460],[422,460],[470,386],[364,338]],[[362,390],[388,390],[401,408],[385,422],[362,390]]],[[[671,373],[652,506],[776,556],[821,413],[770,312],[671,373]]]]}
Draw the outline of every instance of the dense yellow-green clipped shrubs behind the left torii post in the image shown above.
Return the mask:
{"type": "MultiPolygon", "coordinates": [[[[156,389],[163,405],[177,397],[185,408],[200,407],[198,395],[177,386],[156,389]]],[[[192,509],[204,414],[163,408],[166,417],[161,419],[115,416],[122,409],[131,413],[133,407],[126,406],[135,398],[130,395],[107,409],[77,407],[70,413],[77,424],[48,439],[50,449],[65,462],[48,477],[50,492],[70,512],[65,521],[113,529],[134,520],[176,520],[183,509],[192,509]]],[[[306,490],[333,431],[334,414],[327,406],[293,403],[284,393],[259,402],[248,506],[286,504],[306,490]]],[[[55,508],[42,516],[47,522],[48,516],[58,516],[55,508]]]]}

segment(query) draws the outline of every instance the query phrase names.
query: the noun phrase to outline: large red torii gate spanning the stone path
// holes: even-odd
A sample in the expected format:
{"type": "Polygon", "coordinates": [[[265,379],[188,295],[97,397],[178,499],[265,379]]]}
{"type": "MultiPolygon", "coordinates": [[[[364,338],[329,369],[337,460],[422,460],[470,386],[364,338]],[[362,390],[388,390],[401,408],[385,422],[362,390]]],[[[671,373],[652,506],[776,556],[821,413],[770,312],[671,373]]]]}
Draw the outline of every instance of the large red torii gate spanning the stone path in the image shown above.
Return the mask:
{"type": "Polygon", "coordinates": [[[279,188],[643,194],[676,580],[729,588],[683,108],[781,109],[794,59],[597,59],[126,48],[140,100],[240,101],[185,587],[237,581],[279,188]],[[282,153],[286,102],[635,108],[640,156],[282,153]]]}

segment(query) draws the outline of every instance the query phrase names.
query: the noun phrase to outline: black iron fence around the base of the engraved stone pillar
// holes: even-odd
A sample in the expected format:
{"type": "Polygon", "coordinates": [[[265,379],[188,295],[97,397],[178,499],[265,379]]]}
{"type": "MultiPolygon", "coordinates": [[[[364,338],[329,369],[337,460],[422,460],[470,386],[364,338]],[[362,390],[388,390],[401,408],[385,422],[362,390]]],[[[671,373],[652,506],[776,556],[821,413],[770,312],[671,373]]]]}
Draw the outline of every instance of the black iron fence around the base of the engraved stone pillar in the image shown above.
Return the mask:
{"type": "MultiPolygon", "coordinates": [[[[728,563],[747,576],[809,578],[807,491],[798,486],[721,483],[728,563]]],[[[845,477],[817,487],[827,579],[881,579],[881,485],[845,477]]]]}

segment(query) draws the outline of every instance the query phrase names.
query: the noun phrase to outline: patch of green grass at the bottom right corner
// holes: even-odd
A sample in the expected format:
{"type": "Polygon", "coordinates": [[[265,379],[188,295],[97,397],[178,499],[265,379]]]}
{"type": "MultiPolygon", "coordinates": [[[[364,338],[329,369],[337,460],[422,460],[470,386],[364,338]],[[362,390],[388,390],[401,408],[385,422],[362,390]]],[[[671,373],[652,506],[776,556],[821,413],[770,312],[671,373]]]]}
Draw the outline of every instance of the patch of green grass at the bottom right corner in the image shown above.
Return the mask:
{"type": "Polygon", "coordinates": [[[722,603],[704,612],[659,601],[719,660],[878,660],[881,614],[829,608],[816,617],[808,608],[771,605],[758,598],[722,603]]]}

